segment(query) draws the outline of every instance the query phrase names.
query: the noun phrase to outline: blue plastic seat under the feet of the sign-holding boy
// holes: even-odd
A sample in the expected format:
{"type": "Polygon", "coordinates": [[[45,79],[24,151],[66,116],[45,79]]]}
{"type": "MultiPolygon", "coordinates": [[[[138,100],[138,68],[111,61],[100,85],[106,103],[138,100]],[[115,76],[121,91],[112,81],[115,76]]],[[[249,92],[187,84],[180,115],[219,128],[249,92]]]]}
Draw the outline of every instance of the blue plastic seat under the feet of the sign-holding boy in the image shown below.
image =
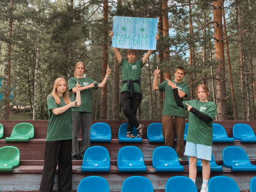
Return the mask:
{"type": "MultiPolygon", "coordinates": [[[[118,130],[119,142],[138,142],[138,143],[142,142],[142,138],[127,138],[126,133],[127,133],[127,123],[124,123],[120,125],[118,130]]],[[[134,136],[137,136],[136,127],[133,127],[132,134],[134,136]]]]}

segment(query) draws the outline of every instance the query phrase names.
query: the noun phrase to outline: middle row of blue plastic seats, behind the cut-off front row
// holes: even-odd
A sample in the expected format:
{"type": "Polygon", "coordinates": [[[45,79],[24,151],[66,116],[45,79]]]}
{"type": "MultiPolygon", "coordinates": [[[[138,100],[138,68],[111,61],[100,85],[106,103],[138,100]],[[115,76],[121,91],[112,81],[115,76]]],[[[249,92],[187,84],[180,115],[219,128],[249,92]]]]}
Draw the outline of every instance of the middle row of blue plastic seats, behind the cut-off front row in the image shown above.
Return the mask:
{"type": "MultiPolygon", "coordinates": [[[[223,149],[223,166],[232,172],[256,172],[256,165],[250,163],[246,152],[241,147],[229,146],[223,149]]],[[[109,172],[110,160],[108,149],[101,146],[89,147],[84,153],[82,172],[109,172]]],[[[214,156],[210,161],[212,172],[222,172],[221,165],[216,164],[214,156]]],[[[143,153],[140,148],[125,146],[120,148],[117,155],[118,172],[146,172],[143,153]]],[[[156,172],[183,172],[177,153],[172,147],[161,146],[154,149],[152,166],[156,172]]],[[[202,171],[201,159],[196,164],[202,171]]]]}

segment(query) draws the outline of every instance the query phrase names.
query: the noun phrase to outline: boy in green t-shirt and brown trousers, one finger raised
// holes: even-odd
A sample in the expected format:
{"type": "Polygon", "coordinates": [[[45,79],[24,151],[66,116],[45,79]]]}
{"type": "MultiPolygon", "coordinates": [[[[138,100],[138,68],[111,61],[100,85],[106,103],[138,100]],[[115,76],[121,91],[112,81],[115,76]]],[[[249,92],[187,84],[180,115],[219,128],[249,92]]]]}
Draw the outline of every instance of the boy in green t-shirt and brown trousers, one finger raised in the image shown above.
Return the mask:
{"type": "Polygon", "coordinates": [[[162,113],[162,129],[164,136],[164,144],[173,147],[173,140],[177,136],[177,155],[183,157],[184,154],[184,129],[185,129],[185,111],[184,108],[177,106],[172,88],[178,88],[179,97],[188,97],[188,84],[182,82],[185,76],[185,68],[175,68],[175,79],[166,80],[157,85],[157,76],[160,69],[154,71],[153,90],[164,92],[164,109],[162,113]]]}

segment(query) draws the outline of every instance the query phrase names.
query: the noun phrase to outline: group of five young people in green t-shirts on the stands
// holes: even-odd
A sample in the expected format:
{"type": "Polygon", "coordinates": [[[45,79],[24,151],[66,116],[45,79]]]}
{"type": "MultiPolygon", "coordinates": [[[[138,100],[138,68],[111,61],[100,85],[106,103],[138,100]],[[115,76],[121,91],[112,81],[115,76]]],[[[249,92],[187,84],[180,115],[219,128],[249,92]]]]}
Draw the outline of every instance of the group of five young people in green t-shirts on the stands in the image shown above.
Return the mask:
{"type": "MultiPolygon", "coordinates": [[[[109,33],[113,36],[113,31],[109,33]]],[[[159,36],[156,36],[159,39],[159,36]]],[[[136,61],[136,50],[127,50],[127,60],[122,58],[118,48],[113,47],[116,59],[122,68],[122,88],[120,105],[127,116],[127,138],[141,137],[143,125],[136,118],[141,102],[141,68],[146,63],[152,50],[149,50],[141,60],[136,61]],[[136,135],[132,134],[136,127],[136,135]]],[[[197,99],[183,101],[188,97],[188,84],[182,81],[185,68],[177,67],[174,80],[166,79],[157,84],[160,69],[154,71],[153,89],[164,92],[164,108],[162,126],[165,145],[173,147],[177,137],[177,155],[181,160],[183,155],[189,156],[189,178],[196,180],[196,162],[202,159],[203,184],[201,192],[208,191],[207,184],[211,173],[209,161],[212,153],[212,120],[216,115],[216,105],[209,101],[209,90],[205,84],[196,88],[197,99]],[[184,145],[185,110],[189,111],[189,127],[184,145]]],[[[92,89],[104,87],[111,69],[106,70],[102,83],[84,77],[84,64],[79,61],[74,68],[74,77],[67,81],[58,78],[54,82],[52,93],[47,97],[49,124],[44,156],[44,170],[40,191],[52,191],[54,175],[58,164],[58,191],[72,189],[72,159],[83,159],[86,148],[90,147],[90,127],[92,125],[92,89]],[[68,91],[72,99],[68,99],[68,91]],[[79,129],[82,131],[82,141],[78,147],[79,129]]]]}

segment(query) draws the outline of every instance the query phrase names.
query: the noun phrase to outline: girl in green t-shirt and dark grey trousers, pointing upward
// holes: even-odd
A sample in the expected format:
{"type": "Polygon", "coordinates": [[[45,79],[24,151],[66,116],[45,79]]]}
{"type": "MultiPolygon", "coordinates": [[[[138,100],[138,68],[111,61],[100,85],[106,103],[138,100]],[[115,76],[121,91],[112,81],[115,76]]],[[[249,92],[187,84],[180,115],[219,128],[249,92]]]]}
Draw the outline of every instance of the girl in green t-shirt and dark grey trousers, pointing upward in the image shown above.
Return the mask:
{"type": "Polygon", "coordinates": [[[102,83],[97,83],[93,79],[83,77],[84,64],[79,61],[76,63],[74,76],[68,81],[68,90],[72,92],[72,99],[76,98],[76,82],[81,85],[81,106],[72,109],[72,159],[83,159],[85,150],[90,147],[90,130],[92,126],[92,90],[97,90],[98,87],[104,87],[111,69],[108,67],[106,76],[102,83]],[[82,141],[80,149],[78,148],[79,129],[82,129],[82,141]]]}

